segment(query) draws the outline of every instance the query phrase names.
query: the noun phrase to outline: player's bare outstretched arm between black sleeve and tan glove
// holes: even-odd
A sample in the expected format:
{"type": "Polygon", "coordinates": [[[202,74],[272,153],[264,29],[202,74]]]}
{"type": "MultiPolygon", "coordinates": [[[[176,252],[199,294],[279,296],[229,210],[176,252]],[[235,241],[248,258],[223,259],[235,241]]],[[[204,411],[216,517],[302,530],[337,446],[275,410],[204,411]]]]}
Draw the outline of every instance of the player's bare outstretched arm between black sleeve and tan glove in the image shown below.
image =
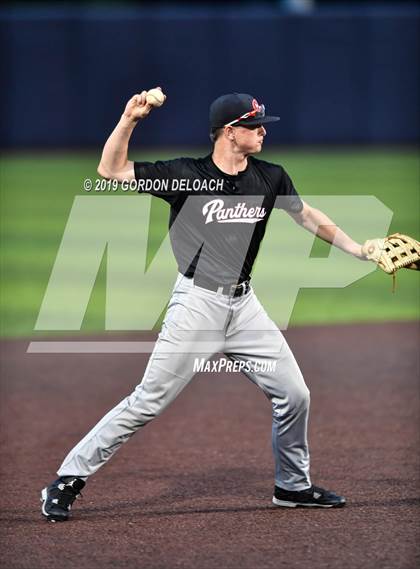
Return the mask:
{"type": "Polygon", "coordinates": [[[362,253],[360,243],[357,243],[344,233],[324,212],[303,202],[303,208],[299,213],[288,213],[296,223],[304,227],[307,231],[317,235],[323,241],[331,243],[335,247],[358,259],[366,260],[365,255],[362,253]]]}

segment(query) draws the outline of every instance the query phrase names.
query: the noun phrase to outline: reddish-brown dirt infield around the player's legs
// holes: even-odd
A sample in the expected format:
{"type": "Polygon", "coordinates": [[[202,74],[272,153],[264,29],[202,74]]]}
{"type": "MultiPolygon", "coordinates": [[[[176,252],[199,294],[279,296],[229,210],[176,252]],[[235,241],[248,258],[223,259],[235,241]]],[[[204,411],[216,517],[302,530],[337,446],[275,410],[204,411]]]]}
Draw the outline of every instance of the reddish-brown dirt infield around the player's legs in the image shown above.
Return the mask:
{"type": "Polygon", "coordinates": [[[285,335],[311,389],[312,479],[346,508],[274,508],[269,403],[241,374],[209,373],[90,479],[70,522],[48,523],[40,489],[147,357],[30,355],[28,342],[4,341],[1,566],[419,566],[418,326],[285,335]]]}

